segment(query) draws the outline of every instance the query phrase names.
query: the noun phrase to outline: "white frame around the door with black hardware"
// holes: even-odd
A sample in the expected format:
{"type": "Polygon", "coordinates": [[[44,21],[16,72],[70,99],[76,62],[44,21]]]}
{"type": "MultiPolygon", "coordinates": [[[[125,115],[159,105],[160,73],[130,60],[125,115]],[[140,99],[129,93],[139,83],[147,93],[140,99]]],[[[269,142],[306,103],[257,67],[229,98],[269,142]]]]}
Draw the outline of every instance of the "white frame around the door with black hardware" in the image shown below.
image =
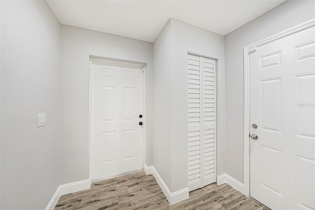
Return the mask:
{"type": "Polygon", "coordinates": [[[92,155],[92,148],[93,148],[93,139],[92,139],[92,60],[104,62],[104,65],[121,65],[122,67],[129,67],[129,68],[134,68],[138,69],[139,71],[143,72],[143,163],[142,167],[144,168],[145,161],[146,161],[146,65],[147,63],[144,62],[138,62],[138,61],[133,61],[133,60],[122,60],[122,59],[113,59],[113,58],[106,58],[106,57],[99,57],[99,56],[92,56],[90,55],[90,90],[89,90],[89,158],[90,158],[90,181],[92,182],[92,160],[93,160],[93,155],[92,155]]]}

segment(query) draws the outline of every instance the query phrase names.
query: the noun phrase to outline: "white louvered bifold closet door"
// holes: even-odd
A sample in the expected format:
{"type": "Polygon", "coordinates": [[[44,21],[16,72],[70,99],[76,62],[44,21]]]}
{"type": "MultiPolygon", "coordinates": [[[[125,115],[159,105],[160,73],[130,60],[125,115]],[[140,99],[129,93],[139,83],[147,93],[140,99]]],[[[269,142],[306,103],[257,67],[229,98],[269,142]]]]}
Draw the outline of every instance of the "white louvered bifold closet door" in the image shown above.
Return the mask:
{"type": "Polygon", "coordinates": [[[188,55],[189,191],[216,182],[216,60],[188,55]]]}

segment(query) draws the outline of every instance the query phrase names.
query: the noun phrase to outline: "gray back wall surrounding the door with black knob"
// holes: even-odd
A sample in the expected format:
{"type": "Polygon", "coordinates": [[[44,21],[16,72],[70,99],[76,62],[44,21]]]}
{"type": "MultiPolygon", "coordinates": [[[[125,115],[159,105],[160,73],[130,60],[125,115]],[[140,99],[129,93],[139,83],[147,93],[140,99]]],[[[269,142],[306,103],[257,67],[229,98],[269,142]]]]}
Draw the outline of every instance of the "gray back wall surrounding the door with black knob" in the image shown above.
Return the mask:
{"type": "Polygon", "coordinates": [[[62,25],[61,183],[89,179],[89,56],[147,63],[147,165],[152,164],[152,43],[62,25]]]}

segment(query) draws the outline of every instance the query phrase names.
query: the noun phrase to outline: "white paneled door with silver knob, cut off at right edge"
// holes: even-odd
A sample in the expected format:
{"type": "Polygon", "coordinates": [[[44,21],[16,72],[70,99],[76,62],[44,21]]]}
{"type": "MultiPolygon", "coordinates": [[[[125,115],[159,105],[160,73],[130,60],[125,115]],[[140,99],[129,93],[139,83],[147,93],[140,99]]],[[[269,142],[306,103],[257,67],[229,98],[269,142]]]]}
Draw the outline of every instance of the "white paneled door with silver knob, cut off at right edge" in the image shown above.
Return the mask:
{"type": "Polygon", "coordinates": [[[315,210],[315,27],[258,47],[250,79],[250,194],[274,210],[315,210]]]}

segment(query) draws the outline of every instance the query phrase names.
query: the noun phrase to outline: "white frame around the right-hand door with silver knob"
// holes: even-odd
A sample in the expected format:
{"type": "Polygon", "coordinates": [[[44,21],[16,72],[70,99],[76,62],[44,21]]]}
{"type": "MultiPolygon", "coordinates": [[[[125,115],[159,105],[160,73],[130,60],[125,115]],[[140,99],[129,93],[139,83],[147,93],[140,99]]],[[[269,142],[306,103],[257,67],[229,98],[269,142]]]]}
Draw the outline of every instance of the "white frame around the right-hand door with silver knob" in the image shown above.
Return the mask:
{"type": "Polygon", "coordinates": [[[315,19],[244,47],[244,194],[250,196],[250,54],[257,47],[315,26],[315,19]]]}

